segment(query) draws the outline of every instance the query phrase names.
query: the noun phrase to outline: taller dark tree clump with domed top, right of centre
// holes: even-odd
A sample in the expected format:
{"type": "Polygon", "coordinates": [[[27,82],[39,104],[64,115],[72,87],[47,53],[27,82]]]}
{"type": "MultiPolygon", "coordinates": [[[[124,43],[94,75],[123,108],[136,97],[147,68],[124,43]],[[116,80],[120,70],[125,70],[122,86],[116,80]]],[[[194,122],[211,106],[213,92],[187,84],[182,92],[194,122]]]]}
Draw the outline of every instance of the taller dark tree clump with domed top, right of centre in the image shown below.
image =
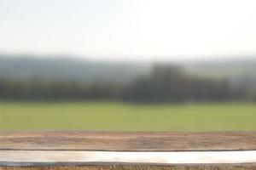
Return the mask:
{"type": "Polygon", "coordinates": [[[231,97],[226,80],[191,77],[176,66],[156,65],[148,77],[134,82],[125,99],[142,102],[222,101],[231,97]]]}

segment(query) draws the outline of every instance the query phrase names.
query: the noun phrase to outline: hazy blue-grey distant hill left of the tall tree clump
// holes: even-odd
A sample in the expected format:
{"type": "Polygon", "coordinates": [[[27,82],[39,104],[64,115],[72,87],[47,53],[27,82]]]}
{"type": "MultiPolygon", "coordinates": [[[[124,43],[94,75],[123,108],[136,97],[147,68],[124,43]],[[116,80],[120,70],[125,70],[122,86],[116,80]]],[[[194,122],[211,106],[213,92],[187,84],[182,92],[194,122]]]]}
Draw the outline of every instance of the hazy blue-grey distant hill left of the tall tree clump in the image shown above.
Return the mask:
{"type": "Polygon", "coordinates": [[[149,65],[132,62],[0,55],[0,77],[14,79],[40,77],[78,82],[130,82],[147,71],[149,65]]]}

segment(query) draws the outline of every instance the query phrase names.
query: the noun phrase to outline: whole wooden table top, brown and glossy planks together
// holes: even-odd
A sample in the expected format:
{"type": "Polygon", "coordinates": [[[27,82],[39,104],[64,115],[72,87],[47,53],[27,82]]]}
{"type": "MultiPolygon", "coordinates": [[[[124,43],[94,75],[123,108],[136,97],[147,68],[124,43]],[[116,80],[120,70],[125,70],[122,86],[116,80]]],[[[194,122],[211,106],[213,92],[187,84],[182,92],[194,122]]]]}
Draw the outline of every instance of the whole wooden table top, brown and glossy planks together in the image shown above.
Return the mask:
{"type": "Polygon", "coordinates": [[[256,169],[256,132],[0,131],[0,170],[44,169],[256,169]]]}

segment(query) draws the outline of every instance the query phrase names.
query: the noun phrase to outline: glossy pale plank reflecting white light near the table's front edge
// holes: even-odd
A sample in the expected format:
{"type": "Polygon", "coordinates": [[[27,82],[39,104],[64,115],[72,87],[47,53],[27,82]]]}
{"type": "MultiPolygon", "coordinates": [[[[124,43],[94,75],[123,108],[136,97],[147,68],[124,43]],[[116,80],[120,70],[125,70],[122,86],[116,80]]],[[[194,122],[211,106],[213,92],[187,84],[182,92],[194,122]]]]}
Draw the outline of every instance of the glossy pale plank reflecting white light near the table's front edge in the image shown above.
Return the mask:
{"type": "Polygon", "coordinates": [[[71,151],[0,150],[0,165],[241,164],[256,163],[255,150],[243,151],[71,151]]]}

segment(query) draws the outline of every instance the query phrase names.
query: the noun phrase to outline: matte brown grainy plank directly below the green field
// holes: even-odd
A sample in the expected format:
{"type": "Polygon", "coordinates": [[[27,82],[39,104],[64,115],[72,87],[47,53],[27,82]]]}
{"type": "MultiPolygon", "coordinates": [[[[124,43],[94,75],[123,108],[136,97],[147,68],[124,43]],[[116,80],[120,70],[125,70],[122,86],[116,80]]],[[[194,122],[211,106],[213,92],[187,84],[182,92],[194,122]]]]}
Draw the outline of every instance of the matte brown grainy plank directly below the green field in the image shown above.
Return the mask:
{"type": "Polygon", "coordinates": [[[0,150],[256,150],[256,132],[0,132],[0,150]]]}

